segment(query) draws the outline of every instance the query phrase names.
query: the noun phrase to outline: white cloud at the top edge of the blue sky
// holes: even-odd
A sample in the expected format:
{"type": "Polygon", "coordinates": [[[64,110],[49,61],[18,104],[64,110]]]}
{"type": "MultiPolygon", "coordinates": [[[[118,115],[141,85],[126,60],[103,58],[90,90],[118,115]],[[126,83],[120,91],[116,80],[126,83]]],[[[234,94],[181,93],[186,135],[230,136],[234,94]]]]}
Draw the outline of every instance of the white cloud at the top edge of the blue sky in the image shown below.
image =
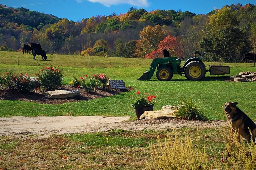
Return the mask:
{"type": "MultiPolygon", "coordinates": [[[[77,2],[81,2],[82,0],[77,0],[77,2]]],[[[99,2],[105,6],[110,7],[110,5],[117,5],[117,4],[130,4],[136,7],[148,7],[147,0],[88,0],[90,2],[99,2]]]]}

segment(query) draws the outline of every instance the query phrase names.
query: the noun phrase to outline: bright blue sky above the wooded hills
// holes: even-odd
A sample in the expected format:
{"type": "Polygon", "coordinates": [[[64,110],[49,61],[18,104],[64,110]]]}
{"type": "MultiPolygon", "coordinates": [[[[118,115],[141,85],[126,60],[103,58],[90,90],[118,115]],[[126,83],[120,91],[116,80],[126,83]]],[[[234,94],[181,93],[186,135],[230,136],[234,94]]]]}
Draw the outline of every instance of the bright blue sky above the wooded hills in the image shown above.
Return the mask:
{"type": "MultiPolygon", "coordinates": [[[[126,13],[130,7],[152,10],[190,11],[206,14],[214,8],[240,3],[254,4],[255,0],[1,0],[0,4],[9,7],[25,7],[31,11],[52,14],[59,18],[80,21],[96,15],[108,16],[112,12],[117,15],[126,13]],[[36,5],[31,5],[36,4],[36,5]]],[[[15,7],[15,8],[16,8],[15,7]]],[[[0,9],[1,10],[1,9],[0,9]]]]}

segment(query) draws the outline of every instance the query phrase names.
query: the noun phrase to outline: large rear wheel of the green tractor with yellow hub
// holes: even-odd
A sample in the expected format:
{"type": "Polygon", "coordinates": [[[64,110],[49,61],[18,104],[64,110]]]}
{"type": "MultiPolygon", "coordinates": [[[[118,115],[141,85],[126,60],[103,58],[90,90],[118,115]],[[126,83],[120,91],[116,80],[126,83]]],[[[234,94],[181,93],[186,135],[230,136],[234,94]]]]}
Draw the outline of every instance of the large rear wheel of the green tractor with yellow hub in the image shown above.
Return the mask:
{"type": "Polygon", "coordinates": [[[200,80],[205,77],[205,72],[203,62],[191,61],[185,67],[185,76],[188,80],[200,80]]]}

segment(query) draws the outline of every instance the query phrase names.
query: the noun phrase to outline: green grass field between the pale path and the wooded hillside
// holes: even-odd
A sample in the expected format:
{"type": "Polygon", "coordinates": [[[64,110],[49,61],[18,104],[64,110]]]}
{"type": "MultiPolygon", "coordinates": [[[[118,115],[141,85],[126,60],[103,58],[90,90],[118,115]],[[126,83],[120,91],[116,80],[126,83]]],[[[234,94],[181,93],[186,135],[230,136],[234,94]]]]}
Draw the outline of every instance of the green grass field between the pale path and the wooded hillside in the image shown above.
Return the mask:
{"type": "MultiPolygon", "coordinates": [[[[171,81],[158,81],[154,75],[150,81],[137,81],[143,72],[148,70],[152,60],[136,58],[116,57],[90,57],[47,54],[48,61],[42,61],[41,56],[33,60],[31,54],[19,53],[19,66],[17,52],[0,51],[0,75],[4,75],[8,69],[14,69],[14,73],[27,73],[33,76],[39,73],[43,67],[59,66],[63,69],[64,84],[73,76],[89,76],[93,74],[106,74],[112,80],[124,80],[126,86],[135,90],[125,92],[113,97],[105,97],[96,100],[64,103],[61,105],[36,104],[22,101],[0,100],[0,116],[58,116],[58,115],[100,115],[131,116],[136,118],[130,95],[136,96],[136,91],[156,95],[157,103],[154,110],[161,109],[165,105],[178,105],[182,99],[192,99],[194,102],[202,102],[202,111],[208,119],[225,120],[222,106],[226,101],[239,102],[237,105],[250,118],[256,120],[256,91],[255,82],[233,83],[223,81],[230,75],[237,75],[242,71],[256,71],[253,63],[223,63],[230,66],[230,75],[210,76],[207,72],[201,81],[189,81],[180,75],[174,75],[171,81]],[[72,114],[70,114],[72,112],[72,114]]],[[[205,65],[218,65],[208,63],[205,65]]]]}

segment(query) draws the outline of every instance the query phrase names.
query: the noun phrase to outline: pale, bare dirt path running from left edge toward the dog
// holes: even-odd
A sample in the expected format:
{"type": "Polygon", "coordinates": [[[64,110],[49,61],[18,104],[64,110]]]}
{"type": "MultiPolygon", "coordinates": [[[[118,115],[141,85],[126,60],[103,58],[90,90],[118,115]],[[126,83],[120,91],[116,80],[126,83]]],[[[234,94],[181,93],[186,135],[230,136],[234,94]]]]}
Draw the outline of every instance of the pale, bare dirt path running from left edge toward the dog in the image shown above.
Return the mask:
{"type": "Polygon", "coordinates": [[[123,130],[163,130],[186,127],[221,127],[226,121],[185,121],[175,119],[132,120],[130,117],[59,116],[0,118],[0,135],[13,134],[68,134],[123,130]]]}

